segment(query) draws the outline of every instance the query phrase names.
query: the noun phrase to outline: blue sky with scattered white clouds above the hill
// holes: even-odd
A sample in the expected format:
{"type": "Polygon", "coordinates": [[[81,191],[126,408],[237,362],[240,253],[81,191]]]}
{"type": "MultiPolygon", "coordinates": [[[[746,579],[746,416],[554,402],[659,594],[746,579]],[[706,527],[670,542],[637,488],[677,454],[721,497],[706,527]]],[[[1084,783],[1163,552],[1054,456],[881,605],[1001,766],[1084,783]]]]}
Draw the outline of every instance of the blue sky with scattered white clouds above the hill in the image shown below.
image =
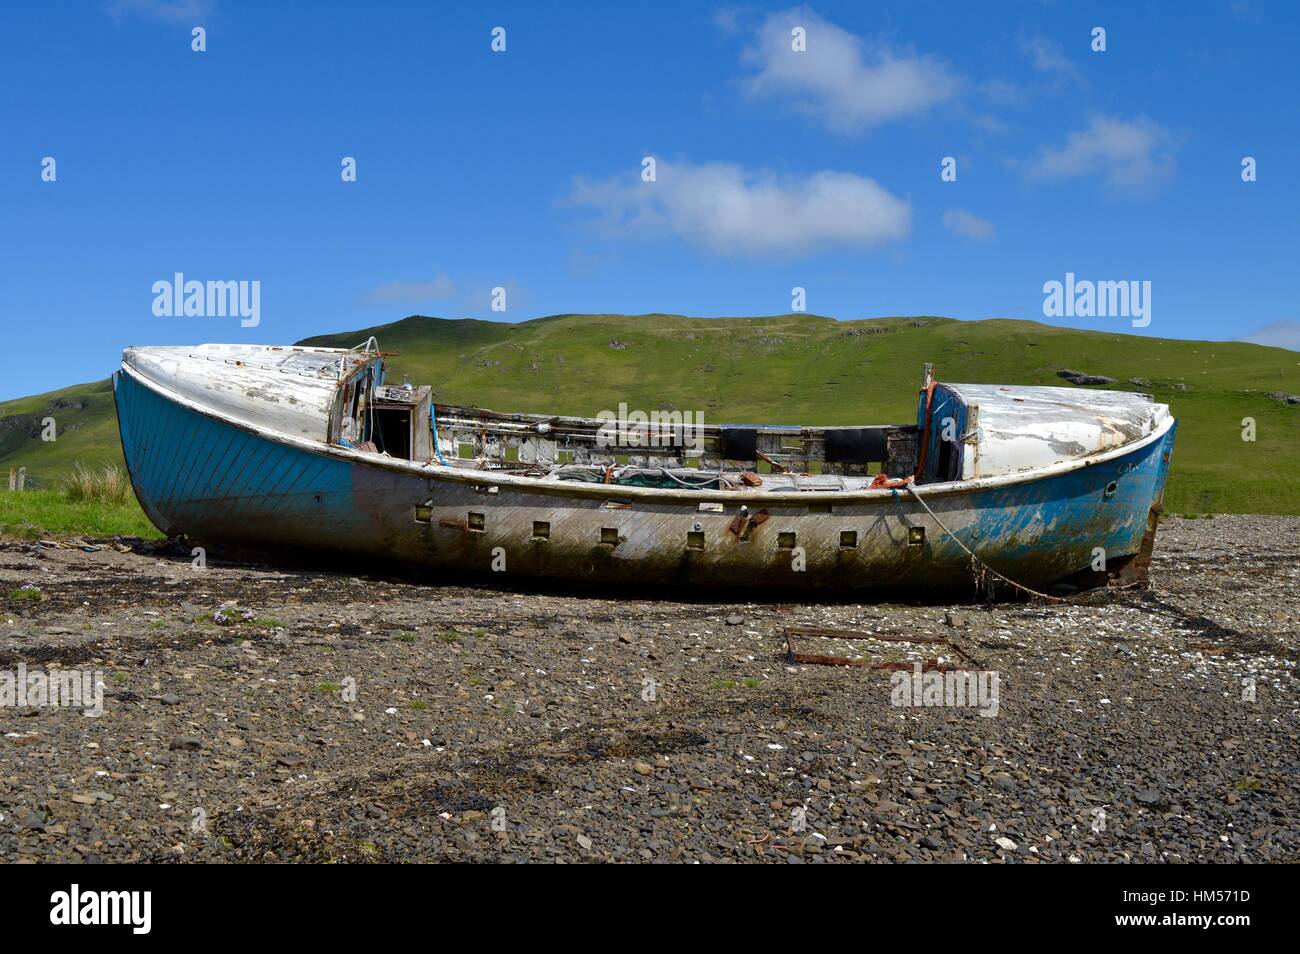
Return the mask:
{"type": "Polygon", "coordinates": [[[0,398],[127,344],[774,315],[796,286],[837,318],[1300,348],[1297,23],[1261,0],[5,5],[0,398]],[[156,316],[177,272],[260,282],[260,322],[156,316]],[[1150,282],[1150,324],[1044,317],[1066,273],[1150,282]]]}

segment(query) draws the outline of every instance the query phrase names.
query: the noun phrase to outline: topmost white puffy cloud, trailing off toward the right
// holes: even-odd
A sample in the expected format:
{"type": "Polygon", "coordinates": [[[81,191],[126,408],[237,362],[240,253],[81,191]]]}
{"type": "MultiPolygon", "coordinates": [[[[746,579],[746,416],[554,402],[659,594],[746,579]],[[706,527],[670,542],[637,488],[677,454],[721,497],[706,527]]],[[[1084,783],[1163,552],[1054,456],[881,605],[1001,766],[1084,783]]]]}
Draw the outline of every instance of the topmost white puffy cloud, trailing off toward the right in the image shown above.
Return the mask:
{"type": "Polygon", "coordinates": [[[944,61],[855,36],[806,6],[770,14],[744,60],[758,70],[746,92],[784,99],[840,133],[923,113],[963,86],[944,61]],[[806,52],[790,48],[794,27],[806,31],[806,52]]]}

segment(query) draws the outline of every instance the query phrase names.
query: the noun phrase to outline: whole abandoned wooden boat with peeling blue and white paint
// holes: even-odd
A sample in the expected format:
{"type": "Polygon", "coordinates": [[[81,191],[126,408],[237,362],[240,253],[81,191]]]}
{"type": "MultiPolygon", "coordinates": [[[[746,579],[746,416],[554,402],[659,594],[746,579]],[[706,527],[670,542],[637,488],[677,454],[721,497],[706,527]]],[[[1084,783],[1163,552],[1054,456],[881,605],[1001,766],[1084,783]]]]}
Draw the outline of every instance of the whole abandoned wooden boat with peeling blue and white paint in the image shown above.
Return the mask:
{"type": "Polygon", "coordinates": [[[1175,421],[1148,395],[920,389],[915,424],[434,404],[352,350],[127,348],[140,506],[195,542],[569,581],[972,594],[1140,580],[1175,421]]]}

